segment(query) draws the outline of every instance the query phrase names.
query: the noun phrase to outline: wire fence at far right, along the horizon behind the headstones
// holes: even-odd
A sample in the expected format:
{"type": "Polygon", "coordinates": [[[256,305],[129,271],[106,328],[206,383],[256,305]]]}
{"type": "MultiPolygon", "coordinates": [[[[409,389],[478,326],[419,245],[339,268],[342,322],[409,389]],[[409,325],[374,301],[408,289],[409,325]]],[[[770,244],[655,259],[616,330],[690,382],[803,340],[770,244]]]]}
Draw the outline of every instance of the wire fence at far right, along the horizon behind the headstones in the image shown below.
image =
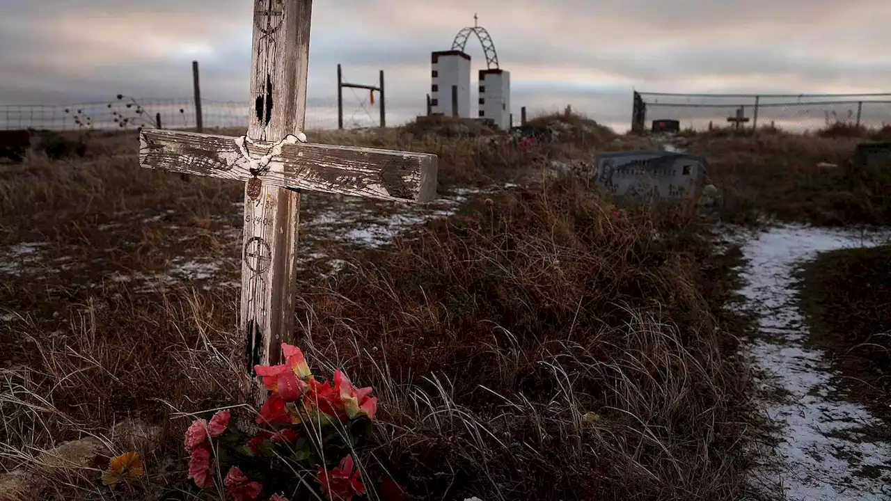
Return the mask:
{"type": "Polygon", "coordinates": [[[644,128],[654,119],[676,119],[682,128],[704,130],[735,125],[738,117],[740,127],[773,125],[798,132],[835,123],[880,128],[891,124],[891,94],[635,92],[634,116],[642,119],[644,128]]]}

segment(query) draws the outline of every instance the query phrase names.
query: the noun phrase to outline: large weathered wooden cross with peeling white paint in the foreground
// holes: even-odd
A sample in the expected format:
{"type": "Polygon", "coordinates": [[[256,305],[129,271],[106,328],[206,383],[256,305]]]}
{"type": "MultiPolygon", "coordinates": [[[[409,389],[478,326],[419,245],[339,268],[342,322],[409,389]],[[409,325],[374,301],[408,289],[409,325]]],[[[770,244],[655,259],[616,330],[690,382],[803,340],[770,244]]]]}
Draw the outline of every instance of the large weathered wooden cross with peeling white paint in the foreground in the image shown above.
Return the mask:
{"type": "MultiPolygon", "coordinates": [[[[294,322],[300,196],[297,190],[424,202],[436,196],[437,157],[307,143],[312,0],[255,0],[248,133],[212,136],[161,129],[140,134],[139,162],[246,182],[241,316],[246,370],[281,362],[294,322]]],[[[254,378],[257,403],[266,398],[254,378]]]]}

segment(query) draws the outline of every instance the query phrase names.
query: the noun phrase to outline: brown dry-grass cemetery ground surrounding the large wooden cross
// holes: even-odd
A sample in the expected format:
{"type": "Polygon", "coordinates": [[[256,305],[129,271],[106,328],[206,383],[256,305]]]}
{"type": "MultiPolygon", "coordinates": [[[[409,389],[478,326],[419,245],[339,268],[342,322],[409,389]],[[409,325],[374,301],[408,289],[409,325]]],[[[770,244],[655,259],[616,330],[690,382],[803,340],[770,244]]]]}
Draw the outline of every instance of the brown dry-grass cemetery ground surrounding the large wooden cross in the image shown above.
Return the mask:
{"type": "MultiPolygon", "coordinates": [[[[743,259],[719,236],[765,216],[887,225],[891,180],[845,167],[857,138],[699,134],[673,141],[707,155],[721,223],[622,209],[584,160],[658,138],[545,122],[562,136],[529,150],[449,127],[307,133],[439,155],[429,207],[301,196],[294,342],[379,398],[368,497],[384,474],[417,499],[764,497],[747,475],[768,426],[740,356],[754,320],[727,308],[743,259]]],[[[96,135],[83,158],[0,166],[0,465],[17,472],[0,490],[198,499],[184,430],[241,401],[243,185],[139,168],[136,143],[96,135]],[[103,486],[129,450],[146,474],[103,486]]],[[[855,292],[818,275],[813,308],[855,292]]]]}

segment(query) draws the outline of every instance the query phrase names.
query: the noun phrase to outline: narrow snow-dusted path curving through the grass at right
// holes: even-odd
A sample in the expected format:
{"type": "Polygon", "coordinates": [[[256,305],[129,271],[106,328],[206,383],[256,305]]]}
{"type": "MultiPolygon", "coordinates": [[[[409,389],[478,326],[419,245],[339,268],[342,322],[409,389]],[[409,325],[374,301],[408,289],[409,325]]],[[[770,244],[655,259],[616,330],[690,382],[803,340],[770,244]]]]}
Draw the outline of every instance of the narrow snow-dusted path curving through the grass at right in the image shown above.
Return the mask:
{"type": "MultiPolygon", "coordinates": [[[[885,235],[887,238],[887,235],[885,235]]],[[[818,252],[880,243],[879,235],[781,226],[742,240],[748,264],[742,308],[756,314],[746,340],[759,378],[760,407],[776,424],[776,445],[754,472],[757,489],[790,500],[891,499],[891,443],[869,438],[882,426],[845,399],[838,371],[809,335],[798,309],[794,267],[818,252]]]]}

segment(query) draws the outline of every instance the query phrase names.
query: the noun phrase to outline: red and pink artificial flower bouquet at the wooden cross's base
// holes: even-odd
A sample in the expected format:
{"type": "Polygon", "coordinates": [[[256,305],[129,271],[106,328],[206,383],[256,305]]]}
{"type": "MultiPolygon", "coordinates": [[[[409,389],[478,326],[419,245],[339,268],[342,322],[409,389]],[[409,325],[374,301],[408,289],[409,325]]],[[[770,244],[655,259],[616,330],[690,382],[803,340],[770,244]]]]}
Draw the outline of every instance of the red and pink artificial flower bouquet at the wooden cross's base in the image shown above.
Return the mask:
{"type": "Polygon", "coordinates": [[[222,490],[233,501],[318,494],[347,501],[363,495],[354,456],[372,430],[377,409],[377,398],[369,396],[372,389],[355,388],[339,370],[331,382],[319,382],[300,349],[282,343],[282,354],[282,365],[254,367],[269,390],[257,415],[261,431],[239,431],[228,410],[192,423],[185,433],[189,478],[201,489],[222,490]]]}

